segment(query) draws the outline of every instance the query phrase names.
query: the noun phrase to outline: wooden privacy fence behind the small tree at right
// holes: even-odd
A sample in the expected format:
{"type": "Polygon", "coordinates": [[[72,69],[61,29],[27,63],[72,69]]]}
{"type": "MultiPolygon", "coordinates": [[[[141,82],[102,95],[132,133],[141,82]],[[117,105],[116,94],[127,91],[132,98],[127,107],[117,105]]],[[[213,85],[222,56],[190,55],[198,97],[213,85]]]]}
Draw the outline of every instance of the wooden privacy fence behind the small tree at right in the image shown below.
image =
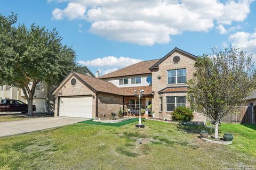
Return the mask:
{"type": "MultiPolygon", "coordinates": [[[[255,124],[256,106],[241,106],[233,114],[227,114],[222,118],[222,123],[255,124]]],[[[207,118],[209,120],[209,118],[207,118]]]]}

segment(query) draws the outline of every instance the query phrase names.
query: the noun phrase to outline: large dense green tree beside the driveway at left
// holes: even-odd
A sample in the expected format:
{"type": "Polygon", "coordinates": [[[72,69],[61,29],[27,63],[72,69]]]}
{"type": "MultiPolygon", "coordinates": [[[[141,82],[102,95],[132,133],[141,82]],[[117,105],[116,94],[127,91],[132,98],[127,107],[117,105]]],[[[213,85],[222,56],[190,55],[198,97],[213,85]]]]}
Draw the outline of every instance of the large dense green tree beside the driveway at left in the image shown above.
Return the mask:
{"type": "Polygon", "coordinates": [[[17,15],[0,14],[0,84],[21,88],[33,115],[36,84],[57,85],[76,66],[75,52],[55,29],[16,22],[17,15]]]}

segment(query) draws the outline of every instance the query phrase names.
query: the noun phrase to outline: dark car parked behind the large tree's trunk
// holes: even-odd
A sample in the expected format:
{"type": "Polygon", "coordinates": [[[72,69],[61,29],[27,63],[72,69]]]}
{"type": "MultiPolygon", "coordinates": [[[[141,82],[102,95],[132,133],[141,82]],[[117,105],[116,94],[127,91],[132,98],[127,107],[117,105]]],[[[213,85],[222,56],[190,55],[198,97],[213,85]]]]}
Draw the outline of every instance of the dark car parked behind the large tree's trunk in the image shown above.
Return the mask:
{"type": "MultiPolygon", "coordinates": [[[[33,105],[33,111],[36,111],[35,105],[33,105]]],[[[28,105],[20,100],[3,99],[0,103],[0,112],[28,113],[28,105]]]]}

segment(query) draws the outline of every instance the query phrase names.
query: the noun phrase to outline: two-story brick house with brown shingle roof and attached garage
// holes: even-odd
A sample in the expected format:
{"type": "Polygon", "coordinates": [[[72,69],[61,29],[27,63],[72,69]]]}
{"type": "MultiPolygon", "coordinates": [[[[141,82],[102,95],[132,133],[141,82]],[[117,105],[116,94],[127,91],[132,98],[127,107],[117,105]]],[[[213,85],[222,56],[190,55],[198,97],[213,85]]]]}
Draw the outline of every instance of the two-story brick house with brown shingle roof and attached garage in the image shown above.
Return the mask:
{"type": "MultiPolygon", "coordinates": [[[[189,107],[186,81],[192,78],[197,57],[174,48],[161,59],[143,61],[93,78],[71,72],[57,89],[55,116],[95,118],[110,116],[119,109],[136,111],[139,99],[134,90],[144,90],[141,107],[152,104],[156,117],[170,120],[177,106],[189,107]]],[[[195,113],[197,121],[205,117],[195,113]]]]}

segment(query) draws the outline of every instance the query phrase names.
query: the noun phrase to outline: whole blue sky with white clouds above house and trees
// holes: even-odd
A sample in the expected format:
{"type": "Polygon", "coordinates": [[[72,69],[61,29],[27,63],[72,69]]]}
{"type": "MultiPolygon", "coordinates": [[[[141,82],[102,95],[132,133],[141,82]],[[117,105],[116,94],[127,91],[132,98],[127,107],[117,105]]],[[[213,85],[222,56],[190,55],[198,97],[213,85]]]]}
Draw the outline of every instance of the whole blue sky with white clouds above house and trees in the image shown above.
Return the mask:
{"type": "Polygon", "coordinates": [[[194,55],[234,47],[256,58],[256,3],[250,0],[0,1],[18,22],[57,28],[92,72],[161,58],[174,47],[194,55]]]}

